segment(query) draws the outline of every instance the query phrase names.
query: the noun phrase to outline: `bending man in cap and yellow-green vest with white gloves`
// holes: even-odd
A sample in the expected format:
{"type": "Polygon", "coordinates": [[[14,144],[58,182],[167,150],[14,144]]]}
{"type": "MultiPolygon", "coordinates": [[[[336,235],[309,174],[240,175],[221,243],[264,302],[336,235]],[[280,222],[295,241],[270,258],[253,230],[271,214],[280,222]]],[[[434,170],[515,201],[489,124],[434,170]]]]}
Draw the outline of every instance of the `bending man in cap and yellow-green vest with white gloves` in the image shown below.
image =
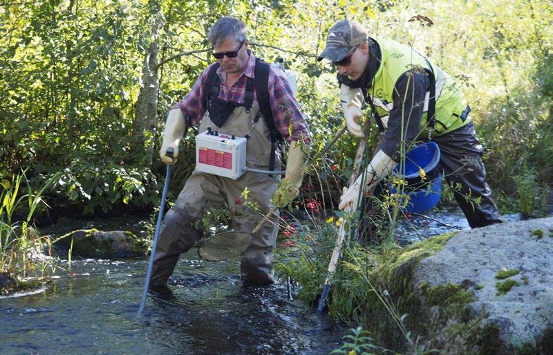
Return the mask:
{"type": "Polygon", "coordinates": [[[402,143],[433,140],[440,147],[440,169],[459,186],[455,198],[471,228],[500,223],[491,199],[470,108],[458,84],[411,46],[373,39],[357,22],[343,20],[328,32],[317,59],[337,66],[340,100],[351,134],[362,138],[362,103],[371,111],[382,138],[366,175],[344,188],[341,210],[357,209],[359,190],[372,191],[400,161],[402,143]]]}

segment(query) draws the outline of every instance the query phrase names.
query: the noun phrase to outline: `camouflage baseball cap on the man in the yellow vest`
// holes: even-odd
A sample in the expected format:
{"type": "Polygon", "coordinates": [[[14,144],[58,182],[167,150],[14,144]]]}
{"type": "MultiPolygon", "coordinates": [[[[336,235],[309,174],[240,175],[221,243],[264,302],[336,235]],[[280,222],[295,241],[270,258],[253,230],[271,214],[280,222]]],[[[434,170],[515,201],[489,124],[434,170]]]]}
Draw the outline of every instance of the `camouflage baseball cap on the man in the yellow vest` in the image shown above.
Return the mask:
{"type": "Polygon", "coordinates": [[[339,62],[348,55],[354,46],[367,42],[366,30],[355,21],[342,20],[328,30],[326,48],[317,58],[319,62],[326,58],[339,62]]]}

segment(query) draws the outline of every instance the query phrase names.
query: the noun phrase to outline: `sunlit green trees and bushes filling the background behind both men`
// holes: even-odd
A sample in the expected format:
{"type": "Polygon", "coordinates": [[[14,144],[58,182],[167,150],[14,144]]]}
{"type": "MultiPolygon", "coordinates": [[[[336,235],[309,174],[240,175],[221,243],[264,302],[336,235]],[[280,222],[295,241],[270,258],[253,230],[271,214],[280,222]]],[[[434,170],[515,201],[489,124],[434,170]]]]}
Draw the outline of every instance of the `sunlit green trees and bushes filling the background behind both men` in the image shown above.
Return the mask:
{"type": "MultiPolygon", "coordinates": [[[[337,19],[349,17],[364,23],[373,35],[413,44],[462,83],[480,129],[494,190],[514,196],[514,176],[529,170],[535,174],[537,188],[551,185],[553,55],[552,39],[546,35],[551,3],[533,0],[522,6],[502,0],[482,5],[454,0],[448,6],[456,8],[455,12],[443,10],[439,3],[426,5],[420,0],[363,6],[355,1],[340,1],[336,6],[302,0],[280,1],[273,7],[270,2],[242,0],[173,0],[39,1],[3,6],[0,174],[29,167],[29,176],[51,175],[74,161],[90,162],[102,170],[108,156],[112,172],[115,165],[139,173],[150,168],[144,161],[160,140],[163,113],[187,93],[212,61],[205,33],[221,15],[246,21],[257,56],[268,61],[284,56],[285,65],[298,73],[299,102],[310,122],[314,148],[319,149],[343,122],[335,68],[316,62],[315,55],[324,45],[328,28],[337,19]],[[424,8],[431,23],[409,21],[418,8],[424,8]],[[471,21],[457,21],[459,17],[471,21]],[[152,46],[158,48],[156,57],[145,57],[152,46]],[[198,53],[183,55],[185,51],[198,53]],[[147,59],[159,64],[151,68],[158,76],[159,94],[151,102],[156,102],[159,119],[157,125],[139,127],[135,104],[147,59]],[[140,129],[146,141],[143,149],[140,145],[134,149],[140,129]]],[[[371,147],[377,143],[374,131],[371,147]]],[[[191,140],[187,138],[186,152],[191,152],[191,140]]],[[[340,179],[348,176],[356,145],[357,140],[346,134],[325,157],[313,162],[309,181],[316,188],[304,190],[306,197],[315,198],[317,193],[326,205],[337,201],[344,185],[340,179]]],[[[184,156],[182,162],[179,180],[189,175],[193,165],[184,156]]],[[[106,198],[113,201],[118,196],[120,203],[144,207],[151,206],[155,197],[126,194],[130,188],[112,194],[108,190],[113,189],[98,186],[86,176],[76,179],[83,191],[75,183],[79,197],[64,191],[68,201],[84,203],[86,212],[109,210],[101,201],[106,198]],[[95,194],[102,197],[95,198],[95,194]]],[[[113,185],[115,180],[107,183],[113,185]]]]}

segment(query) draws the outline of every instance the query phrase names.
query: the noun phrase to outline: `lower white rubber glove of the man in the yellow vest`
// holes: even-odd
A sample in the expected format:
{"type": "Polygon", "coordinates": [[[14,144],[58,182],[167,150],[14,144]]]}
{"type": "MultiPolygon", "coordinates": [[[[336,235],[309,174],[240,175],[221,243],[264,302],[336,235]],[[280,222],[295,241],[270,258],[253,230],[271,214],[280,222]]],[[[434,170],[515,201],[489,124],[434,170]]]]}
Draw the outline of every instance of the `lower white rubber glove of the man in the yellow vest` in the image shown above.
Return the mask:
{"type": "Polygon", "coordinates": [[[357,202],[359,199],[359,190],[362,188],[361,183],[363,180],[363,192],[372,189],[374,185],[384,176],[390,174],[395,168],[397,163],[388,156],[388,154],[379,150],[371,163],[368,163],[365,169],[365,176],[359,175],[355,183],[350,188],[344,188],[343,194],[340,197],[340,204],[338,208],[340,210],[347,210],[353,212],[357,210],[357,202]]]}

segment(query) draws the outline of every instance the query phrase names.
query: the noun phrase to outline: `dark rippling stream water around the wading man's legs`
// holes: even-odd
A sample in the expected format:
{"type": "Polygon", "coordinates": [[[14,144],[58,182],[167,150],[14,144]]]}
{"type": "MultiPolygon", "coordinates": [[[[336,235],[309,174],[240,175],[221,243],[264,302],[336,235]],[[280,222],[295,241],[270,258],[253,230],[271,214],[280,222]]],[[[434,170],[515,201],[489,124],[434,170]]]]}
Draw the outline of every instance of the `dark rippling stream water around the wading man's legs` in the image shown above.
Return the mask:
{"type": "MultiPolygon", "coordinates": [[[[413,242],[456,230],[453,226],[468,228],[458,209],[427,217],[403,221],[397,238],[413,242]]],[[[56,228],[58,235],[66,232],[56,228]]],[[[118,218],[66,228],[144,233],[144,222],[118,218]]],[[[53,285],[39,293],[0,298],[0,354],[319,355],[339,347],[347,330],[289,299],[285,284],[245,288],[237,262],[205,262],[194,249],[181,255],[171,277],[174,297],[149,296],[137,318],[147,262],[74,261],[71,276],[59,270],[53,285]]]]}

